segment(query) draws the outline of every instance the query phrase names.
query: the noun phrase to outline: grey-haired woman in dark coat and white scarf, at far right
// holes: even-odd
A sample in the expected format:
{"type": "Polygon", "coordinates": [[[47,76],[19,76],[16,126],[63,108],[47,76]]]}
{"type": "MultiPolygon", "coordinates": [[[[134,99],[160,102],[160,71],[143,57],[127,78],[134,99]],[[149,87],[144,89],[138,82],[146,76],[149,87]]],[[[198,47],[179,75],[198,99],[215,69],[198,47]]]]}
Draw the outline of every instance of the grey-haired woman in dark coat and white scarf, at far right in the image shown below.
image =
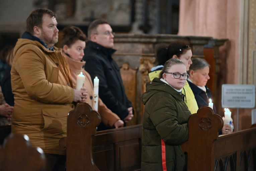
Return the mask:
{"type": "MultiPolygon", "coordinates": [[[[192,58],[192,62],[193,63],[187,71],[189,74],[188,84],[195,95],[198,107],[208,106],[209,99],[213,101],[211,91],[206,85],[207,81],[210,79],[208,75],[210,65],[204,59],[200,58],[192,58]]],[[[213,105],[213,110],[217,113],[215,103],[213,105]]],[[[222,132],[219,132],[219,134],[230,133],[233,133],[233,129],[231,129],[229,124],[224,124],[222,132]]]]}

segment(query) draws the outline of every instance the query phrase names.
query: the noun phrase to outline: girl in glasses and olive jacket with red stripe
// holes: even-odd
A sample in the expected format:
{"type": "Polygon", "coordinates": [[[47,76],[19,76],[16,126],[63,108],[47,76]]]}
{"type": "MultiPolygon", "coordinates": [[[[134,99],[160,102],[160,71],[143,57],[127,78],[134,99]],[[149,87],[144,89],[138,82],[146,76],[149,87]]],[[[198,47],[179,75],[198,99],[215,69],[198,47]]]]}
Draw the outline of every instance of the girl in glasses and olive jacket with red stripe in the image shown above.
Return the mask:
{"type": "Polygon", "coordinates": [[[168,60],[142,95],[145,111],[142,121],[141,170],[182,171],[185,155],[180,147],[188,139],[188,117],[181,89],[189,75],[179,59],[168,60]]]}

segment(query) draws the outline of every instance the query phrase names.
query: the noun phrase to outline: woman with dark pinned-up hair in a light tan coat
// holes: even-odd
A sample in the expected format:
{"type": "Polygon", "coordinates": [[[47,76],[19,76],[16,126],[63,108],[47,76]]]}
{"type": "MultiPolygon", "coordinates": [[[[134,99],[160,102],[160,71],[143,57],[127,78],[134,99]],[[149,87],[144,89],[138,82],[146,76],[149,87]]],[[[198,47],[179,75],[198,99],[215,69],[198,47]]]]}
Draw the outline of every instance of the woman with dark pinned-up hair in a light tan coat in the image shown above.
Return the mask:
{"type": "MultiPolygon", "coordinates": [[[[93,92],[93,84],[90,77],[90,74],[84,70],[85,61],[82,61],[84,56],[84,48],[86,35],[83,31],[76,26],[66,26],[63,29],[63,39],[62,39],[62,48],[65,54],[68,56],[69,68],[71,69],[71,77],[73,86],[76,87],[76,78],[77,75],[81,72],[85,76],[84,87],[86,87],[88,91],[88,97],[84,102],[89,103],[92,107],[94,104],[94,92],[93,92]]],[[[123,127],[123,121],[110,109],[106,107],[106,105],[102,102],[102,100],[98,99],[98,112],[101,115],[101,121],[108,126],[108,128],[117,128],[123,127]]],[[[103,128],[98,126],[97,131],[102,131],[103,128]]]]}

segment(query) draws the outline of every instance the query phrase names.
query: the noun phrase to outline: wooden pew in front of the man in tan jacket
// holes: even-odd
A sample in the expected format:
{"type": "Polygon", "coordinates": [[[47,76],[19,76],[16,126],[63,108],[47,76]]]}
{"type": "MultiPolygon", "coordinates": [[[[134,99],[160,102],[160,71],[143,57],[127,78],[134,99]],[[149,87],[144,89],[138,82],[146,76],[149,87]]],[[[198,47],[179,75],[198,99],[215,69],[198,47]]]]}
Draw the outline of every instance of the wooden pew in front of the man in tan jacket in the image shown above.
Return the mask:
{"type": "Polygon", "coordinates": [[[100,131],[100,115],[87,103],[80,103],[67,118],[67,137],[60,147],[67,148],[67,171],[139,171],[142,126],[100,131]]]}

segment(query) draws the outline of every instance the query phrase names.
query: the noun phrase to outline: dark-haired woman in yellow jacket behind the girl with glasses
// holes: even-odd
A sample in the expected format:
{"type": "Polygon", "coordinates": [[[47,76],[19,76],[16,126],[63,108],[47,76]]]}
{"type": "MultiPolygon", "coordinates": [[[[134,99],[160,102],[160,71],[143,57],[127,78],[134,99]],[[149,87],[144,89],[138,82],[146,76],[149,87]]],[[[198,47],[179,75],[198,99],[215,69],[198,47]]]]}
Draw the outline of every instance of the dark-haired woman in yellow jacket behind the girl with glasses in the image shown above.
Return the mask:
{"type": "MultiPolygon", "coordinates": [[[[159,65],[151,69],[151,72],[149,73],[150,80],[152,81],[155,77],[158,77],[164,63],[171,58],[181,60],[185,64],[186,70],[188,71],[190,65],[192,64],[191,57],[192,51],[187,40],[182,39],[173,41],[169,45],[159,45],[157,48],[157,61],[159,65]]],[[[185,94],[185,103],[187,104],[189,111],[192,114],[196,113],[198,106],[188,82],[186,82],[186,85],[182,88],[182,93],[185,94]]]]}

